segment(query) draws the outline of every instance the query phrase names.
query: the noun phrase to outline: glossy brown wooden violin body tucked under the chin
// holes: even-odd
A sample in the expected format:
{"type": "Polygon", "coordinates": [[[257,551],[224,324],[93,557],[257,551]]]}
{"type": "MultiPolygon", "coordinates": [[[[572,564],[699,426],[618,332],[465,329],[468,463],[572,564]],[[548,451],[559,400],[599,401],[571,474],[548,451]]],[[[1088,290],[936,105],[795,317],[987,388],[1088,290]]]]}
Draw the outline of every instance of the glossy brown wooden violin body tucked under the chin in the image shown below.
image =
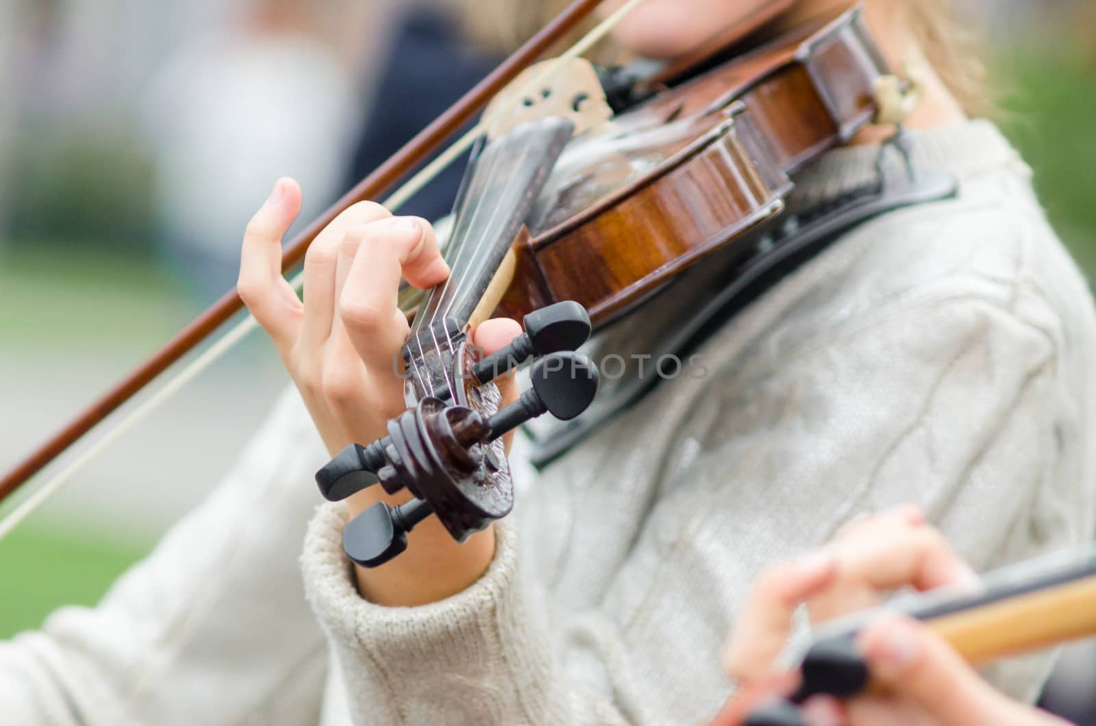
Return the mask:
{"type": "Polygon", "coordinates": [[[514,241],[493,315],[572,299],[596,328],[707,254],[749,242],[784,208],[790,174],[874,118],[887,73],[854,8],[575,137],[514,241]]]}

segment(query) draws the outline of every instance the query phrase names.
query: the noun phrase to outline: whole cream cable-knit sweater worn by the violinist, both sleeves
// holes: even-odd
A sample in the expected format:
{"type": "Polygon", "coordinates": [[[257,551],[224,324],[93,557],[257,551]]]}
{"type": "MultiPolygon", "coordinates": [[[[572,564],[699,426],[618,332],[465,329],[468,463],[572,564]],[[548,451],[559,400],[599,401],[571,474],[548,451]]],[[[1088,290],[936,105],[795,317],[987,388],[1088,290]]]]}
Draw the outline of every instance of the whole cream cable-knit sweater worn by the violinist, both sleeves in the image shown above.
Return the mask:
{"type": "MultiPolygon", "coordinates": [[[[874,152],[833,151],[804,182],[874,152]]],[[[518,436],[517,508],[465,592],[358,597],[342,509],[306,534],[326,454],[290,392],[98,608],[0,645],[0,723],[700,724],[730,692],[720,647],[758,570],[860,512],[920,502],[979,568],[1088,540],[1085,283],[992,125],[917,133],[914,156],[959,197],[845,235],[699,349],[706,375],[539,476],[518,436]]],[[[604,344],[642,350],[686,288],[604,344]]],[[[998,683],[1030,697],[1048,663],[998,683]]]]}

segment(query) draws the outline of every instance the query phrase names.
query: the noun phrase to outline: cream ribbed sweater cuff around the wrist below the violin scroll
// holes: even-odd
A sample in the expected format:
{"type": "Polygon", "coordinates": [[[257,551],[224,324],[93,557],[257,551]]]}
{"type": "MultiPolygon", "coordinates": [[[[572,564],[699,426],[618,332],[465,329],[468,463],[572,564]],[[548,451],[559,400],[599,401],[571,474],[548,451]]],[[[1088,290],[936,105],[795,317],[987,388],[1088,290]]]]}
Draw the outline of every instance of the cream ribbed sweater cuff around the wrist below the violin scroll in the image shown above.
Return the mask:
{"type": "Polygon", "coordinates": [[[520,583],[512,525],[495,524],[494,558],[471,587],[426,605],[387,608],[355,589],[342,551],[345,523],[340,504],[317,511],[302,567],[356,717],[387,711],[389,723],[455,723],[456,710],[468,711],[460,723],[517,723],[545,715],[550,640],[520,583]]]}

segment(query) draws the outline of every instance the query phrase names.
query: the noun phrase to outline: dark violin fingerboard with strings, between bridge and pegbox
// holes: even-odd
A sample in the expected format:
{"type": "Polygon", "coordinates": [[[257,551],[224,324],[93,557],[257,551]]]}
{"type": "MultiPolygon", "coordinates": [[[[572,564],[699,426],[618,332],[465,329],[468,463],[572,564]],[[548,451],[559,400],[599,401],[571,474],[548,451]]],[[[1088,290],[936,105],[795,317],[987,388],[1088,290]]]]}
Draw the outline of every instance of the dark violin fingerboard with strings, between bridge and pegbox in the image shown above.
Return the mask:
{"type": "Polygon", "coordinates": [[[449,279],[427,294],[415,315],[407,344],[412,355],[436,348],[442,336],[459,336],[495,308],[498,299],[486,297],[501,297],[509,284],[496,277],[505,274],[511,246],[573,127],[559,117],[522,124],[469,165],[446,249],[449,279]]]}

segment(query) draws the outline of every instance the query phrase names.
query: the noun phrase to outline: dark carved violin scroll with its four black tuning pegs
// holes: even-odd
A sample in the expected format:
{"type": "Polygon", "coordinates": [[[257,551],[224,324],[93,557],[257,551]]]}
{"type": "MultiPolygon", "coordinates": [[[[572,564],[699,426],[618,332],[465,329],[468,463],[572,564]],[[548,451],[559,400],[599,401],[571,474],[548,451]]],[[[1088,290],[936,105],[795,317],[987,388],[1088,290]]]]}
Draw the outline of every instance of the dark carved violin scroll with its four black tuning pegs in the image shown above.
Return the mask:
{"type": "Polygon", "coordinates": [[[458,542],[505,517],[513,486],[496,440],[544,413],[574,418],[593,401],[597,367],[585,355],[556,350],[585,342],[585,309],[560,303],[526,316],[525,324],[526,332],[514,342],[471,366],[483,384],[541,355],[529,372],[532,387],[513,404],[489,416],[449,402],[449,396],[427,396],[389,421],[389,435],[366,446],[351,444],[317,472],[316,483],[331,501],[374,484],[388,494],[407,489],[414,496],[399,507],[377,502],[346,525],[343,547],[354,561],[376,567],[399,555],[407,533],[430,514],[458,542]]]}

